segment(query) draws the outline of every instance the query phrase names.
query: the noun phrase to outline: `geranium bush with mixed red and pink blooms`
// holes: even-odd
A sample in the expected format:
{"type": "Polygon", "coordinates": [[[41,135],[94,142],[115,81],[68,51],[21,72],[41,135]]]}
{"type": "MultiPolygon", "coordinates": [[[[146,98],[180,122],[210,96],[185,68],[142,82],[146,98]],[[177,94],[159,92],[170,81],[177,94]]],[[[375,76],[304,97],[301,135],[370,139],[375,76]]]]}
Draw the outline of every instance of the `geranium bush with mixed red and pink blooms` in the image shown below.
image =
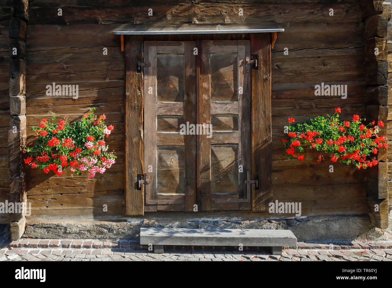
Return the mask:
{"type": "Polygon", "coordinates": [[[95,108],[90,109],[79,121],[70,124],[68,116],[54,123],[46,118],[38,127],[31,130],[38,139],[33,147],[24,146],[23,153],[28,154],[24,162],[31,168],[42,169],[45,173],[52,170],[58,176],[64,169],[70,167],[73,174],[82,175],[87,171],[89,178],[96,172],[103,173],[114,164],[114,152],[107,152],[108,145],[105,136],[109,136],[113,125],[105,125],[105,114],[98,118],[93,114],[95,108]]]}

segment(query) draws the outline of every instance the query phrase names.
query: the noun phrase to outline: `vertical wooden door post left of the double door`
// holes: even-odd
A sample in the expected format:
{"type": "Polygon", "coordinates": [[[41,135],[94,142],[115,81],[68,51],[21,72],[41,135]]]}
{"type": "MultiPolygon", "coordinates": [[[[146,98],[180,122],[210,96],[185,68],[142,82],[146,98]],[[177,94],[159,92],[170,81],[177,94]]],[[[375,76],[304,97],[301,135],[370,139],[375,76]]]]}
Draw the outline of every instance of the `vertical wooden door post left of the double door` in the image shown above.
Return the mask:
{"type": "Polygon", "coordinates": [[[138,174],[144,174],[143,73],[136,72],[143,56],[143,39],[125,36],[125,213],[144,215],[144,191],[137,189],[138,174]]]}

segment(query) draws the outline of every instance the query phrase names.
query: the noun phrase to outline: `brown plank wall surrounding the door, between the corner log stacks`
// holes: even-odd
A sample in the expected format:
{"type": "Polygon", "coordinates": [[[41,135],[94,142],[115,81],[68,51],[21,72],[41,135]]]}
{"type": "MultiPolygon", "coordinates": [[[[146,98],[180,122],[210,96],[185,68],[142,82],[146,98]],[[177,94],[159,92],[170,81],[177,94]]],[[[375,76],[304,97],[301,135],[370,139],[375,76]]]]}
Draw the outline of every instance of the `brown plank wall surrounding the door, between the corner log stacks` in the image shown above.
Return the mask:
{"type": "MultiPolygon", "coordinates": [[[[366,173],[330,161],[282,156],[280,137],[287,118],[297,122],[333,113],[365,116],[364,23],[358,0],[342,1],[125,1],[31,0],[26,40],[26,116],[31,127],[53,112],[73,120],[90,107],[105,113],[115,130],[109,137],[116,165],[93,179],[27,175],[27,197],[35,215],[122,215],[124,213],[124,55],[120,37],[111,33],[122,23],[260,23],[285,29],[272,51],[272,185],[273,199],[300,201],[302,214],[366,213],[366,173]],[[151,3],[151,4],[149,4],[151,3]],[[241,3],[241,4],[236,4],[241,3]],[[57,16],[58,8],[63,16],[57,16]],[[153,16],[147,16],[148,9],[153,16]],[[238,16],[238,9],[244,16],[238,16]],[[329,16],[334,9],[334,16],[329,16]],[[108,55],[102,54],[107,47],[108,55]],[[289,55],[284,55],[284,49],[289,55]],[[45,95],[45,86],[78,84],[79,98],[45,95]],[[321,82],[347,84],[347,99],[315,96],[321,82]],[[49,112],[48,112],[49,111],[49,112]],[[109,206],[108,212],[102,205],[109,206]]],[[[0,35],[1,36],[1,35],[0,35]]],[[[372,121],[372,120],[370,120],[372,121]]],[[[276,215],[275,215],[276,216],[276,215]]]]}

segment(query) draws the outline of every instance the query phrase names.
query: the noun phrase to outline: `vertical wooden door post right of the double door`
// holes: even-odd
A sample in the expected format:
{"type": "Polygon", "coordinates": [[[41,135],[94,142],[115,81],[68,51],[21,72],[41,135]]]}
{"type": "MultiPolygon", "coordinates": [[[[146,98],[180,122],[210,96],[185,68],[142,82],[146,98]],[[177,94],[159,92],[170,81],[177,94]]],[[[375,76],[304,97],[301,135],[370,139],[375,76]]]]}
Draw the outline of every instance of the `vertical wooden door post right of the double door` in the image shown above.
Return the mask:
{"type": "Polygon", "coordinates": [[[272,134],[271,134],[271,38],[252,34],[250,54],[258,56],[258,70],[252,70],[252,179],[258,179],[252,190],[252,211],[266,211],[272,199],[272,134]],[[260,121],[263,119],[263,121],[260,121]]]}

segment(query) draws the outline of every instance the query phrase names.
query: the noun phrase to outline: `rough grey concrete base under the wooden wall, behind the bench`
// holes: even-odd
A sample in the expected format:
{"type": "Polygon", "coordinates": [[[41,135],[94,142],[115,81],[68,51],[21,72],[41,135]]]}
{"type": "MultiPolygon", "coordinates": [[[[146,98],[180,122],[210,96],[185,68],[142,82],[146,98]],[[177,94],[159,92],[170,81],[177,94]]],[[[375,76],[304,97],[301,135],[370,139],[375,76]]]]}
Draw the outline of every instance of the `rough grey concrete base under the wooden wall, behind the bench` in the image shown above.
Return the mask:
{"type": "MultiPolygon", "coordinates": [[[[368,216],[317,216],[293,219],[129,218],[113,221],[32,220],[22,237],[40,239],[138,239],[140,227],[289,229],[298,241],[383,240],[384,230],[368,216]]],[[[385,239],[386,240],[386,239],[385,239]]]]}

